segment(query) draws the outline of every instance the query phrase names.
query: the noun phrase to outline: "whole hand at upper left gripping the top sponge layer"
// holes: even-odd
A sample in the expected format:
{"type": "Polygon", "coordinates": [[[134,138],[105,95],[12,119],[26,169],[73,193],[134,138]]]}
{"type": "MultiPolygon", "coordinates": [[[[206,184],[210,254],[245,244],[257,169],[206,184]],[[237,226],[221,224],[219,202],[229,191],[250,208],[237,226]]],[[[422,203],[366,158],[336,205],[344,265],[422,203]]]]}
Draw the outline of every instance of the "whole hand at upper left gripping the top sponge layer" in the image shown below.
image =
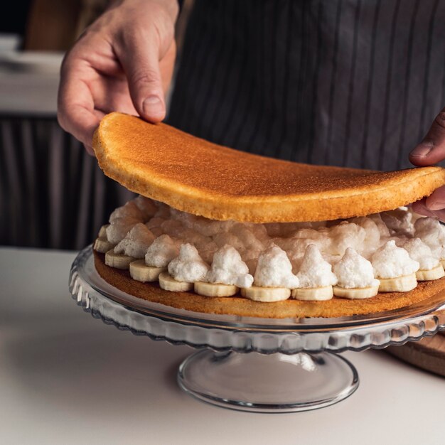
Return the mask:
{"type": "Polygon", "coordinates": [[[176,0],[114,1],[65,55],[58,121],[90,154],[100,119],[112,111],[160,122],[176,57],[176,0]]]}

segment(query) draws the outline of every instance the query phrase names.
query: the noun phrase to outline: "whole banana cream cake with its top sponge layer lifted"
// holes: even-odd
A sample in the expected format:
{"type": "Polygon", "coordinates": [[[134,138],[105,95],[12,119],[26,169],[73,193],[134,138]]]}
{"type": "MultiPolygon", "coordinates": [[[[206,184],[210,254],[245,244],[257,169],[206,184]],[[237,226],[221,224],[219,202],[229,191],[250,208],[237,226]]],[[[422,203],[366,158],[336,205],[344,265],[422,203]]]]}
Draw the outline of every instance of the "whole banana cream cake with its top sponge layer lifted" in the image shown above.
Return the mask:
{"type": "Polygon", "coordinates": [[[140,193],[94,245],[97,272],[128,294],[301,318],[390,311],[445,290],[444,226],[405,206],[445,183],[442,168],[307,166],[119,113],[93,146],[104,173],[140,193]]]}

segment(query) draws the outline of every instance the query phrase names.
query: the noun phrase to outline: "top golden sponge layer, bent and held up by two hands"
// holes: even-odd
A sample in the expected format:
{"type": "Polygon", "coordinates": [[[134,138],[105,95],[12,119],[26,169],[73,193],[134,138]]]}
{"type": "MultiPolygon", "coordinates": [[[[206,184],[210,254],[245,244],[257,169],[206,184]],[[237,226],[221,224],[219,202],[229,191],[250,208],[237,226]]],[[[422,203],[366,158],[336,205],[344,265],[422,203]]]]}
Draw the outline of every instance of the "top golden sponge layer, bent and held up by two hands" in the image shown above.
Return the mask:
{"type": "Polygon", "coordinates": [[[131,191],[214,220],[334,220],[407,205],[445,184],[445,169],[376,172],[270,159],[166,124],[105,116],[93,147],[104,173],[131,191]]]}

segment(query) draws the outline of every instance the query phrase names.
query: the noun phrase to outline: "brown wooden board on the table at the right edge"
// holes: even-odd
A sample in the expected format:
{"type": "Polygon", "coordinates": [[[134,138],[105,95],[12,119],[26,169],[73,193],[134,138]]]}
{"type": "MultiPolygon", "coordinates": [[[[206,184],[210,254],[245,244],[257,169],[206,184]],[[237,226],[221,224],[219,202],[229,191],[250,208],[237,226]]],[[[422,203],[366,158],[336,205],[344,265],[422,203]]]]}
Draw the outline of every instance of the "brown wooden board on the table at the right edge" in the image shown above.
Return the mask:
{"type": "Polygon", "coordinates": [[[445,377],[445,333],[412,341],[403,346],[390,346],[388,353],[411,365],[445,377]]]}

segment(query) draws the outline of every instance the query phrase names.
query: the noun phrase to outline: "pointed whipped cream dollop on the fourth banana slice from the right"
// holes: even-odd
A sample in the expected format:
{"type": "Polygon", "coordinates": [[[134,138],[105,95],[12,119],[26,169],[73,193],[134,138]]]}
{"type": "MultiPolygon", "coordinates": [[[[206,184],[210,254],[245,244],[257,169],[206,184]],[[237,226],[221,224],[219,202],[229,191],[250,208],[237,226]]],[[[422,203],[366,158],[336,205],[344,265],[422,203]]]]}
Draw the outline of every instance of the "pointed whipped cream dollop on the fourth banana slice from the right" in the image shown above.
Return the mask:
{"type": "Polygon", "coordinates": [[[332,273],[332,266],[321,256],[320,251],[314,244],[306,247],[306,252],[301,262],[299,273],[299,287],[313,288],[334,286],[337,277],[332,273]]]}

